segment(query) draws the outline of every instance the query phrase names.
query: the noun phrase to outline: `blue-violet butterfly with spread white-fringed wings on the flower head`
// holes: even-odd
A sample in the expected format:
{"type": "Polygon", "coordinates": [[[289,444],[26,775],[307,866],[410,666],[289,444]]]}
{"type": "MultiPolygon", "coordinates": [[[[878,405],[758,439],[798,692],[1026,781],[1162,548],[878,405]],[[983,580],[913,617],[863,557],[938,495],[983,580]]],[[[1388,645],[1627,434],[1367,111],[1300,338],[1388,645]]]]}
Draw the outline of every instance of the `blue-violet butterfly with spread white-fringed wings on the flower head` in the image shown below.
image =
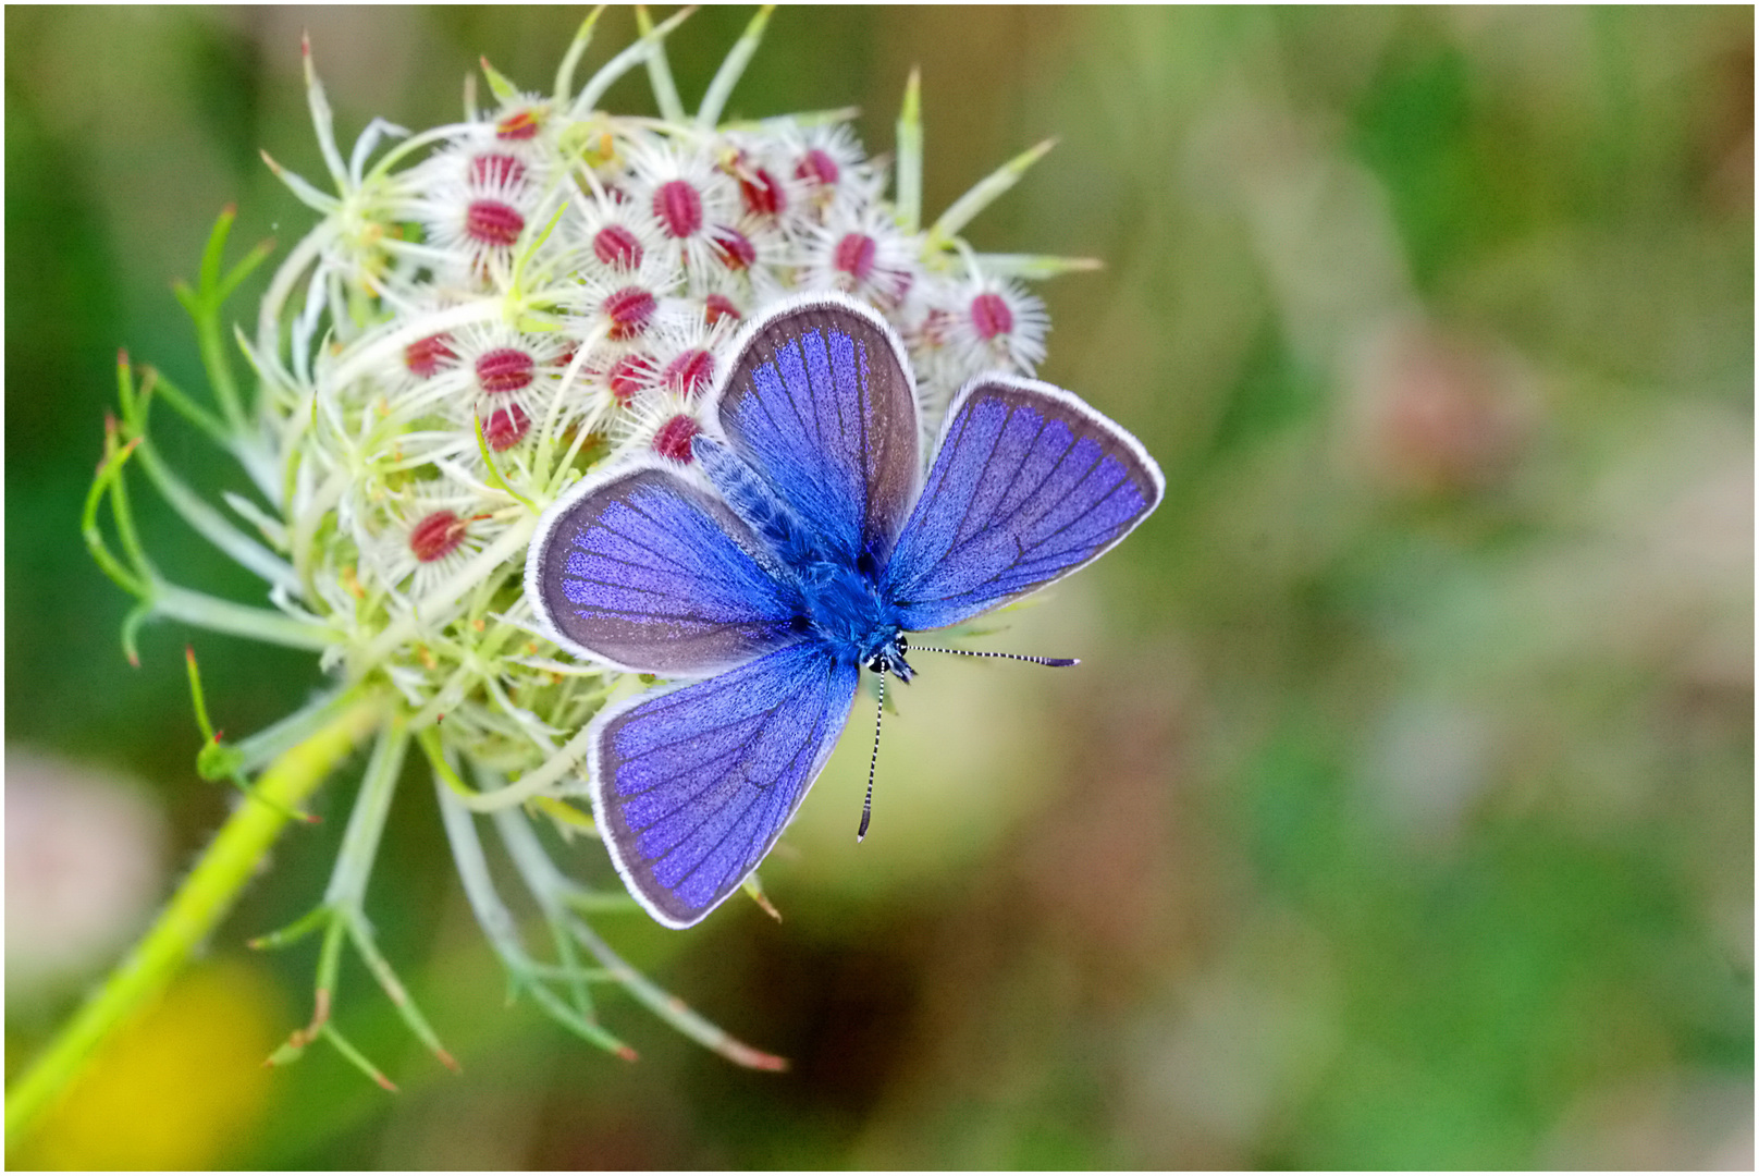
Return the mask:
{"type": "Polygon", "coordinates": [[[582,479],[545,511],[526,558],[526,599],[559,646],[697,680],[607,706],[588,736],[610,859],[674,928],[769,854],[864,665],[883,704],[885,674],[915,673],[908,632],[1091,563],[1164,491],[1135,437],[1011,375],[959,391],[923,481],[904,347],[837,296],[748,324],[704,417],[695,468],[646,456],[582,479]]]}

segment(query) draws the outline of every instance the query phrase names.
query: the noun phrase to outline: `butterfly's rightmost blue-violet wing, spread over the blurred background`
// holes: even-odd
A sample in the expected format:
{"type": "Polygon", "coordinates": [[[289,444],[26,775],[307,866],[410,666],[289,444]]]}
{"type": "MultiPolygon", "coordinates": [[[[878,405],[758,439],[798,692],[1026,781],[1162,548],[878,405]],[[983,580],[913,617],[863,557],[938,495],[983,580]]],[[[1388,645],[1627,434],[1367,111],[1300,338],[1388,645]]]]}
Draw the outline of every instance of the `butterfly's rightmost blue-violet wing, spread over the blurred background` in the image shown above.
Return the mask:
{"type": "Polygon", "coordinates": [[[1164,486],[1142,444],[1073,393],[980,375],[946,412],[883,590],[904,628],[955,625],[1096,560],[1164,486]]]}

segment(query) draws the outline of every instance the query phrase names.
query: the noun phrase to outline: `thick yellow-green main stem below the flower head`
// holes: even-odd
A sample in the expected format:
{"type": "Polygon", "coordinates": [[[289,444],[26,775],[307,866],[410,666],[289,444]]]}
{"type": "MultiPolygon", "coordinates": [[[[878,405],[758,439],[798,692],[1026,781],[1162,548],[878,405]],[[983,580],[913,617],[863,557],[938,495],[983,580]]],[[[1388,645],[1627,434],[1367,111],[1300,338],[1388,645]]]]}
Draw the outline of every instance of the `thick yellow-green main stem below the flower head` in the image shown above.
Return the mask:
{"type": "Polygon", "coordinates": [[[157,998],[232,908],[264,854],[299,808],[382,720],[382,699],[362,694],[308,739],[292,746],[257,782],[273,805],[245,801],[202,854],[171,905],[104,986],[74,1014],[7,1091],[5,1141],[14,1150],[44,1111],[86,1070],[99,1046],[157,998]]]}

